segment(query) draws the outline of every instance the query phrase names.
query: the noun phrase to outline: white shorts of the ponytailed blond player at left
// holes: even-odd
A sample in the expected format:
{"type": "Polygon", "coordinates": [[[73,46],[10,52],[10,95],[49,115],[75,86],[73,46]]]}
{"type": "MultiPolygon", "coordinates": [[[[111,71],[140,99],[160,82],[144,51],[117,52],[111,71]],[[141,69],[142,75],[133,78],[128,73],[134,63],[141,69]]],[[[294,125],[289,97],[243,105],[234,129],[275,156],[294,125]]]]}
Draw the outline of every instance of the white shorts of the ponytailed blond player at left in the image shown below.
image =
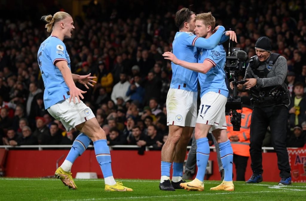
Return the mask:
{"type": "Polygon", "coordinates": [[[79,103],[69,103],[69,98],[59,101],[57,104],[52,105],[47,109],[51,116],[62,122],[67,131],[75,128],[77,125],[94,118],[95,115],[83,101],[79,103]]]}

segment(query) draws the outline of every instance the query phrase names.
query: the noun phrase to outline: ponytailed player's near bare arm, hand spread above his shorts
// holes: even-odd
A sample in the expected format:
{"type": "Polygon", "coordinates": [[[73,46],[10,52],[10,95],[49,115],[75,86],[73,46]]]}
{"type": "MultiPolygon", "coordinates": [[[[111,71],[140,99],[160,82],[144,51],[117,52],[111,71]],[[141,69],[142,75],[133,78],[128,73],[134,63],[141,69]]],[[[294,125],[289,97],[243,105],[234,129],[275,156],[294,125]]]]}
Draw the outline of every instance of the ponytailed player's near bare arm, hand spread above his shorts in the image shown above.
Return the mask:
{"type": "Polygon", "coordinates": [[[70,99],[69,102],[71,102],[71,99],[73,100],[73,103],[75,103],[75,97],[77,98],[78,102],[80,103],[80,97],[83,99],[82,93],[86,93],[86,91],[82,91],[81,89],[77,88],[73,78],[71,71],[68,67],[67,61],[59,61],[55,64],[56,67],[61,71],[63,78],[69,88],[70,93],[70,99]]]}

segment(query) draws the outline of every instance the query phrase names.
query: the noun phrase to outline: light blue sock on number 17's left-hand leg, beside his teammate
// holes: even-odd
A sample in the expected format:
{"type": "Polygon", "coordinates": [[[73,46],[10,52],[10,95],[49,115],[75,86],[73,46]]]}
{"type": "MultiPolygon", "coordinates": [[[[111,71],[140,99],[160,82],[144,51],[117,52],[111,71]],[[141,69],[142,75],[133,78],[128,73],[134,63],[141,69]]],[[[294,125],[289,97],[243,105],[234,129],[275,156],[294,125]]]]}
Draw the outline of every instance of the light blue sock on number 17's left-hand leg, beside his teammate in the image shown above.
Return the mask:
{"type": "Polygon", "coordinates": [[[197,139],[196,146],[196,165],[198,166],[196,178],[200,181],[204,181],[206,166],[210,154],[208,138],[197,139]]]}

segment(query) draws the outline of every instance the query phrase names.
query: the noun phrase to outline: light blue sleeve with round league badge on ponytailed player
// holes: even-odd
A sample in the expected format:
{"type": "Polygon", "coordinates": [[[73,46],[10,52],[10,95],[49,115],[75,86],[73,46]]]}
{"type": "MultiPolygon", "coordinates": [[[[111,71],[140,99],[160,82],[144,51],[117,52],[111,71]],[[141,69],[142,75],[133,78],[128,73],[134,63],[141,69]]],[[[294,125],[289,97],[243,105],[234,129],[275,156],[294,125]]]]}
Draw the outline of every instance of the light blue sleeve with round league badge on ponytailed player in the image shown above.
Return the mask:
{"type": "Polygon", "coordinates": [[[68,63],[65,45],[63,43],[56,42],[49,44],[49,55],[52,63],[54,65],[59,61],[66,61],[68,63]]]}

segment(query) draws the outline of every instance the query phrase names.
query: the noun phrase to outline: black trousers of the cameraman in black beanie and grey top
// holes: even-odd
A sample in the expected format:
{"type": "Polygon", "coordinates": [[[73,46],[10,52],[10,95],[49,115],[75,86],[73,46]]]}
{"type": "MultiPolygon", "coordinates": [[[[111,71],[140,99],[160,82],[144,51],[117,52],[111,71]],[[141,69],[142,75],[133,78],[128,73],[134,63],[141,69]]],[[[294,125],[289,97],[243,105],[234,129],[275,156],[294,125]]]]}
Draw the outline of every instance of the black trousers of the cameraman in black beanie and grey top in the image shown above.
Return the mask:
{"type": "Polygon", "coordinates": [[[262,174],[261,146],[267,127],[270,126],[271,141],[277,155],[277,165],[280,177],[289,177],[290,165],[286,149],[286,127],[288,123],[288,109],[284,106],[254,107],[250,129],[250,155],[253,173],[262,174]]]}

